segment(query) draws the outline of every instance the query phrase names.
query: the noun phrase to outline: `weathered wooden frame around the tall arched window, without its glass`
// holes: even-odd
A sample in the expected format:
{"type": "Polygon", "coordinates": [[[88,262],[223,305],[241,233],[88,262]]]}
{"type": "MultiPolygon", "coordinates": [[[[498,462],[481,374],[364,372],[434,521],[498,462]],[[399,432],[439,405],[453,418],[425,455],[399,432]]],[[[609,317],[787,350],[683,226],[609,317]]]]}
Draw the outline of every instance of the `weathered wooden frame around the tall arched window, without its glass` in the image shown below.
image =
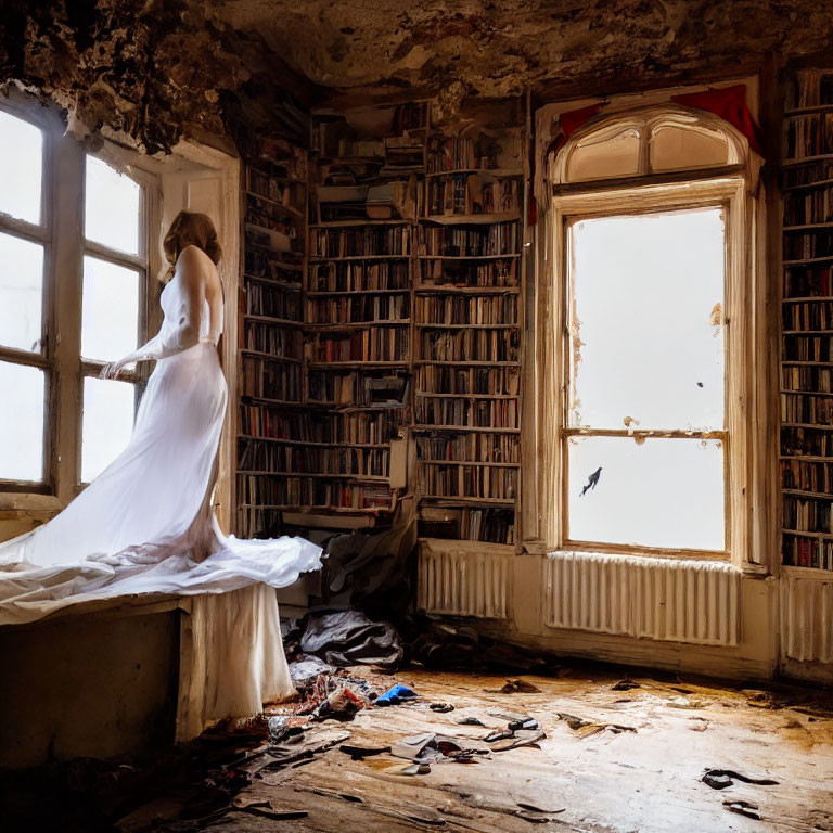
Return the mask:
{"type": "MultiPolygon", "coordinates": [[[[751,90],[755,115],[757,80],[749,78],[743,82],[751,90]]],[[[695,197],[701,196],[701,205],[709,202],[714,205],[723,198],[730,205],[726,228],[728,249],[733,257],[727,273],[725,311],[728,319],[727,372],[731,372],[727,395],[727,427],[731,435],[727,449],[731,457],[727,459],[732,466],[732,484],[727,491],[731,525],[728,560],[744,573],[760,576],[767,575],[776,563],[777,517],[773,516],[772,500],[778,484],[778,319],[772,313],[772,305],[778,297],[778,284],[773,283],[777,270],[773,270],[771,259],[773,244],[768,239],[771,219],[767,210],[765,180],[759,176],[762,159],[749,152],[747,140],[732,126],[700,111],[690,112],[733,136],[743,151],[738,164],[564,183],[558,171],[561,153],[569,148],[569,142],[560,151],[555,145],[558,153],[552,153],[555,134],[552,126],[561,113],[590,104],[606,104],[602,116],[574,134],[578,137],[605,119],[627,119],[635,110],[641,111],[641,117],[649,107],[657,112],[679,111],[671,97],[699,89],[703,88],[657,90],[604,102],[584,100],[548,104],[536,113],[536,156],[540,164],[535,171],[534,193],[539,217],[533,255],[528,258],[535,280],[527,283],[524,343],[527,369],[523,414],[524,460],[527,461],[523,472],[524,553],[579,550],[568,544],[561,534],[563,461],[560,428],[566,394],[562,369],[567,359],[563,337],[566,261],[561,230],[564,217],[594,212],[630,214],[646,202],[654,209],[685,209],[694,207],[695,197]],[[681,189],[678,193],[684,192],[691,200],[687,198],[682,204],[675,200],[675,188],[681,189]],[[615,201],[613,207],[612,201],[615,201]]],[[[594,551],[606,548],[594,548],[594,551]]],[[[649,553],[639,548],[623,547],[617,551],[635,558],[646,554],[696,558],[687,550],[653,550],[649,553]]]]}

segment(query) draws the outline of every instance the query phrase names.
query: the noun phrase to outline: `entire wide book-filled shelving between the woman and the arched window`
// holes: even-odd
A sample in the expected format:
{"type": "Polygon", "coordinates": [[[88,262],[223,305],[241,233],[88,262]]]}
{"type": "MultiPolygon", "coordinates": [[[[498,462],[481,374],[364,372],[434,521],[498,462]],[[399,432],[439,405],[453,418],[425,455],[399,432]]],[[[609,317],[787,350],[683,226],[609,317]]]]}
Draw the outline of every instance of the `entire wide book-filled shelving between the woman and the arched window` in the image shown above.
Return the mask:
{"type": "Polygon", "coordinates": [[[303,182],[247,161],[241,535],[385,524],[412,494],[422,538],[514,548],[518,112],[322,111],[303,182]]]}

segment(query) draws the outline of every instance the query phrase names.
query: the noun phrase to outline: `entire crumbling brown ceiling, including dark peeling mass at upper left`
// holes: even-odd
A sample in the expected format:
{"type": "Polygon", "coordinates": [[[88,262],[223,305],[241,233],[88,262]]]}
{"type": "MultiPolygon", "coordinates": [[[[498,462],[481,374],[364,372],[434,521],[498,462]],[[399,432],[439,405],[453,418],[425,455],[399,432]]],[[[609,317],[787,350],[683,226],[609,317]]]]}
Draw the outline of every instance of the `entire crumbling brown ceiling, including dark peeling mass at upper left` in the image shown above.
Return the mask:
{"type": "Polygon", "coordinates": [[[833,4],[820,0],[0,0],[2,79],[149,152],[241,117],[281,127],[287,92],[300,106],[571,98],[831,44],[833,4]]]}

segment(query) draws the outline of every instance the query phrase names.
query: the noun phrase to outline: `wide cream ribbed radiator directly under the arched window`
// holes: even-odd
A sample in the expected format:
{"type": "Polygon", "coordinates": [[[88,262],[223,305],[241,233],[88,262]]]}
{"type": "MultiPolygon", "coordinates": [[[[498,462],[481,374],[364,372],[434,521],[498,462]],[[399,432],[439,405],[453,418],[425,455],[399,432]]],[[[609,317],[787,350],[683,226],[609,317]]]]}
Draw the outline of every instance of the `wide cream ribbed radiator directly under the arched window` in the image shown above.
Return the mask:
{"type": "Polygon", "coordinates": [[[740,573],[723,562],[555,553],[543,594],[550,628],[738,644],[740,573]]]}

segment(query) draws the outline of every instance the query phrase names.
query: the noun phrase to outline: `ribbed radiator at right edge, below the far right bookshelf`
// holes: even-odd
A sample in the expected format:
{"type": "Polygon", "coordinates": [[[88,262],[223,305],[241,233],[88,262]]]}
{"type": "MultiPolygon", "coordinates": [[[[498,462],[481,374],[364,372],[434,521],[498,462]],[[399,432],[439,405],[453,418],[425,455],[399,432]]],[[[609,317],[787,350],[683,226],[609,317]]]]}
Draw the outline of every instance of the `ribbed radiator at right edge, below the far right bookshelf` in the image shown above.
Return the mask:
{"type": "Polygon", "coordinates": [[[781,651],[799,662],[833,662],[833,580],[782,575],[781,651]]]}

